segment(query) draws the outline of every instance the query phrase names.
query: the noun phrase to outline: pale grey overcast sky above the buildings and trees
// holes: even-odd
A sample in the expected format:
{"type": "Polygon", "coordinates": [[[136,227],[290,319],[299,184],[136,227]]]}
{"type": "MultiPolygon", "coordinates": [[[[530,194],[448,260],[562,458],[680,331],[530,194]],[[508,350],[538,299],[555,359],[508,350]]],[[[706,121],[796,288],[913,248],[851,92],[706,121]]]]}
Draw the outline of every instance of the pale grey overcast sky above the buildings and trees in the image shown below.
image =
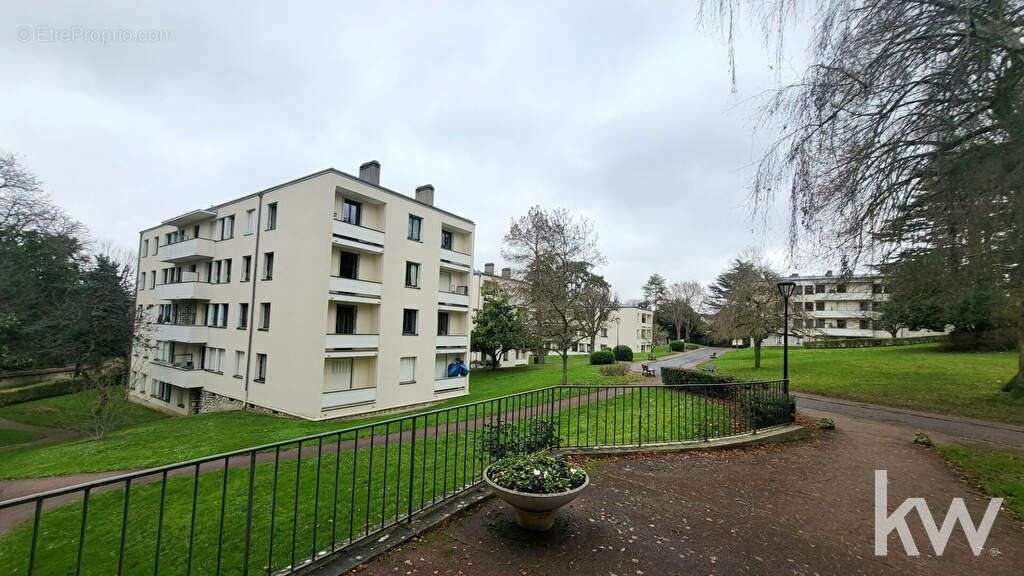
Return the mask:
{"type": "Polygon", "coordinates": [[[733,93],[695,3],[4,4],[0,151],[95,238],[134,248],[172,215],[378,160],[383,186],[432,183],[476,222],[477,268],[539,204],[594,220],[623,298],[751,246],[790,271],[784,206],[763,225],[746,195],[758,96],[802,45],[776,74],[740,30],[733,93]]]}

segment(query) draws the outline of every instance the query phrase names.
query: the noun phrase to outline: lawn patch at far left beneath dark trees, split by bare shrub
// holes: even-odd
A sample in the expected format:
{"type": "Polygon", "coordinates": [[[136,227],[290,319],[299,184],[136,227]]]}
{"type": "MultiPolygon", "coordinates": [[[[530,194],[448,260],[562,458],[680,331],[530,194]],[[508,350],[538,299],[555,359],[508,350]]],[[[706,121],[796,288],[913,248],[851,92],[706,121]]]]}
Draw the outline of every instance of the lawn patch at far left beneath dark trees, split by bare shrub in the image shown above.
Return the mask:
{"type": "MultiPolygon", "coordinates": [[[[0,408],[0,418],[37,426],[75,429],[87,418],[89,407],[92,406],[97,395],[97,390],[91,389],[12,404],[0,408]]],[[[118,410],[123,415],[118,428],[137,426],[167,417],[163,412],[127,400],[118,399],[118,410]]]]}

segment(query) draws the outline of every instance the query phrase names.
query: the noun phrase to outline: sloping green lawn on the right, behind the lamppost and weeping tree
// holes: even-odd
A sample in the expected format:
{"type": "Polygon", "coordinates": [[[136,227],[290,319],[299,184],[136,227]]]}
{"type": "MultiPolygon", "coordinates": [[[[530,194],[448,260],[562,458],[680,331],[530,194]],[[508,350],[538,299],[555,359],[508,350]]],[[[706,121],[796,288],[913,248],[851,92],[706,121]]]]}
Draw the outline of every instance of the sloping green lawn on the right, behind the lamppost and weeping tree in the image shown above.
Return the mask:
{"type": "MultiPolygon", "coordinates": [[[[741,379],[781,377],[781,347],[764,348],[759,370],[753,358],[744,348],[711,363],[741,379]]],[[[798,392],[1024,424],[1024,398],[999,392],[1016,369],[1013,352],[949,353],[939,344],[790,348],[791,386],[798,392]]]]}

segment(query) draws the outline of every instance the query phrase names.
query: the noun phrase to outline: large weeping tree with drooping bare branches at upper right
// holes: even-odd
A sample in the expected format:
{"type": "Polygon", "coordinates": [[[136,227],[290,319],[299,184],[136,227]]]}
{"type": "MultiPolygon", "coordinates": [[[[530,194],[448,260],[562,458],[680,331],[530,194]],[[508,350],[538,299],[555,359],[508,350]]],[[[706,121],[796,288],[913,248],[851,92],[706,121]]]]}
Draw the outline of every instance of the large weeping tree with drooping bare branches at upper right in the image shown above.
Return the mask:
{"type": "MultiPolygon", "coordinates": [[[[701,12],[729,30],[731,46],[739,7],[753,8],[781,59],[800,4],[706,0],[701,12]]],[[[788,194],[792,251],[807,236],[853,264],[921,246],[969,269],[990,262],[1018,330],[1018,373],[1007,389],[1024,389],[1024,3],[814,4],[813,63],[765,110],[781,136],[757,170],[756,205],[788,194]],[[923,212],[952,205],[950,197],[968,209],[922,227],[923,212]]]]}

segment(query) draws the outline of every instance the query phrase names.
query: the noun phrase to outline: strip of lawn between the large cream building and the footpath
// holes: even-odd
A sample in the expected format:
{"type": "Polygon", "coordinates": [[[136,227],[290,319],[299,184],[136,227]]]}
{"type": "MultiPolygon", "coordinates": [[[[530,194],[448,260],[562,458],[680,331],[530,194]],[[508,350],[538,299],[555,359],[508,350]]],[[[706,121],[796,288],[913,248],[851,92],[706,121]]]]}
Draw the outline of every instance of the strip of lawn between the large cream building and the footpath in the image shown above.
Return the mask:
{"type": "MultiPolygon", "coordinates": [[[[588,364],[587,357],[569,358],[569,381],[572,383],[624,383],[633,378],[631,374],[604,376],[597,366],[588,364]]],[[[560,381],[561,362],[557,357],[549,358],[545,365],[474,370],[468,396],[423,410],[489,400],[560,381]]],[[[394,414],[388,414],[311,422],[253,412],[221,412],[162,418],[118,430],[101,440],[79,440],[6,452],[0,456],[0,479],[145,468],[393,417],[394,414]]]]}

